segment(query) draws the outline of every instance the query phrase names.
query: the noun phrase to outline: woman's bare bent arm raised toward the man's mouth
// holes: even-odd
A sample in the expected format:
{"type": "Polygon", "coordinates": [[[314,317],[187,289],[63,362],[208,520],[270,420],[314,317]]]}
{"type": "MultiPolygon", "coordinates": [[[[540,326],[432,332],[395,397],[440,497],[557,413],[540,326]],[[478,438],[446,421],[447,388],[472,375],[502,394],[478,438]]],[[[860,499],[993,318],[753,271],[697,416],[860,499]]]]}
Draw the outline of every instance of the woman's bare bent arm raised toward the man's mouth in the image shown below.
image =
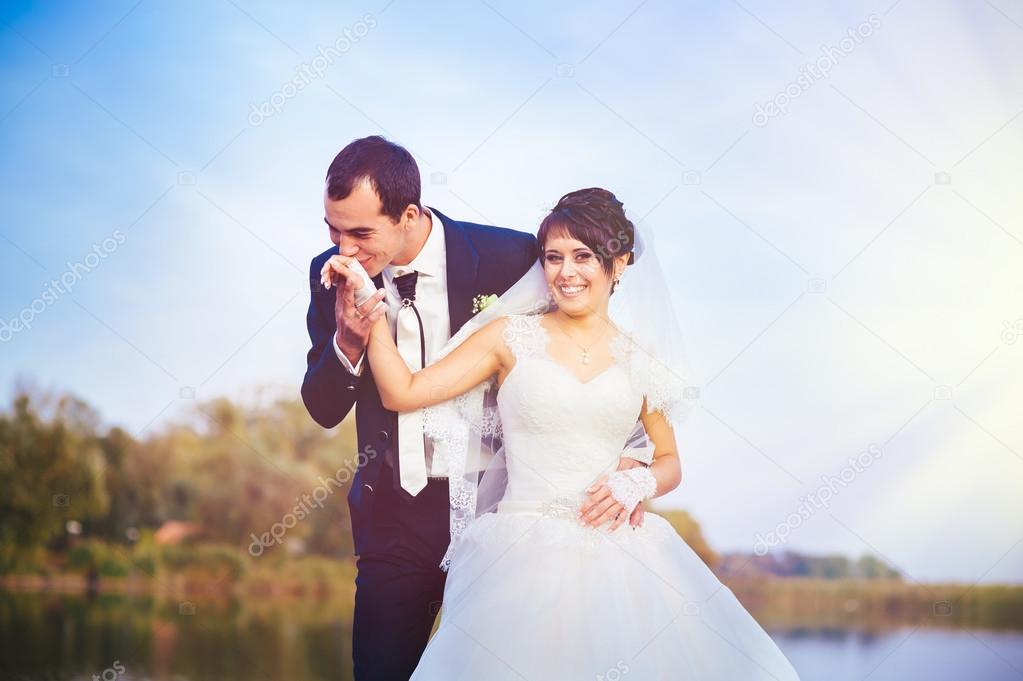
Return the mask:
{"type": "Polygon", "coordinates": [[[381,317],[369,334],[369,365],[381,403],[391,411],[413,411],[461,395],[502,367],[504,319],[495,319],[465,338],[444,359],[415,373],[391,337],[387,318],[381,317]]]}

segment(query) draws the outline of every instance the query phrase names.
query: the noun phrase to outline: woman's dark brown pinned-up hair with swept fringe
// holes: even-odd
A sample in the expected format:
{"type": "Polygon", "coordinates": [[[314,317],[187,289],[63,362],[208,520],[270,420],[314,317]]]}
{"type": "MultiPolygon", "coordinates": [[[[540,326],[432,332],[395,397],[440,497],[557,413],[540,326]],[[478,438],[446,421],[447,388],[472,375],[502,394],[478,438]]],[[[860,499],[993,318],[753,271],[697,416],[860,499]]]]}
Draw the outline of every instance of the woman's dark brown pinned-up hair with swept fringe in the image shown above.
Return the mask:
{"type": "Polygon", "coordinates": [[[536,240],[542,258],[547,239],[568,236],[582,241],[594,254],[608,276],[614,268],[614,259],[629,254],[628,264],[635,260],[635,226],[625,217],[623,203],[607,189],[590,187],[570,191],[561,197],[558,206],[540,223],[536,240]]]}

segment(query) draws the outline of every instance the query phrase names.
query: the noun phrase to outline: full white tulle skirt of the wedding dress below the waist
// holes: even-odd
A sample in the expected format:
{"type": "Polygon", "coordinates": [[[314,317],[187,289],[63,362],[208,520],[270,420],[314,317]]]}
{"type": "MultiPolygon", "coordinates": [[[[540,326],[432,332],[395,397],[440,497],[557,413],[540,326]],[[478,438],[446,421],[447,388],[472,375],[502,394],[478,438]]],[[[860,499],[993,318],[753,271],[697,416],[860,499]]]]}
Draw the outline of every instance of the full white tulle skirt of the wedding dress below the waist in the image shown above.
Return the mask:
{"type": "Polygon", "coordinates": [[[414,681],[797,681],[662,516],[614,533],[487,513],[462,537],[414,681]]]}

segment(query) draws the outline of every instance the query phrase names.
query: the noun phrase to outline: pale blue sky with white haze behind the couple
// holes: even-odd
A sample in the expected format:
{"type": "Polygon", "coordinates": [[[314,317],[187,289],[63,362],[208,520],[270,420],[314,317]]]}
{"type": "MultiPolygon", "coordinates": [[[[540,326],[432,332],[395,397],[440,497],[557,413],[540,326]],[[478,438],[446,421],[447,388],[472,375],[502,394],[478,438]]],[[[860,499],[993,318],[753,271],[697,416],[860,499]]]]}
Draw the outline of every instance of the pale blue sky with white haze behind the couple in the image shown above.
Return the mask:
{"type": "Polygon", "coordinates": [[[1009,0],[6,2],[0,387],[139,437],[298,396],[323,175],[446,215],[604,186],[656,235],[720,550],[1023,581],[1023,9],[1009,0]]]}

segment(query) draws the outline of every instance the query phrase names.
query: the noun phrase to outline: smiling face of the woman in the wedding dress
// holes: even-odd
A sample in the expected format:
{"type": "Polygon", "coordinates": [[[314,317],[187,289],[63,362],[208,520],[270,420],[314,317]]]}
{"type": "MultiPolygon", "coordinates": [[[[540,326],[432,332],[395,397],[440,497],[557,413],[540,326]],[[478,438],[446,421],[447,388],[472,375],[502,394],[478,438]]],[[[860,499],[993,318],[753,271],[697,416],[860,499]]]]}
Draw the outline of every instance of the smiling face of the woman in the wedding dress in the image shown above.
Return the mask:
{"type": "Polygon", "coordinates": [[[616,259],[612,273],[601,265],[596,254],[570,236],[551,235],[543,244],[543,272],[558,307],[566,313],[596,312],[608,305],[614,275],[624,267],[616,259]]]}

